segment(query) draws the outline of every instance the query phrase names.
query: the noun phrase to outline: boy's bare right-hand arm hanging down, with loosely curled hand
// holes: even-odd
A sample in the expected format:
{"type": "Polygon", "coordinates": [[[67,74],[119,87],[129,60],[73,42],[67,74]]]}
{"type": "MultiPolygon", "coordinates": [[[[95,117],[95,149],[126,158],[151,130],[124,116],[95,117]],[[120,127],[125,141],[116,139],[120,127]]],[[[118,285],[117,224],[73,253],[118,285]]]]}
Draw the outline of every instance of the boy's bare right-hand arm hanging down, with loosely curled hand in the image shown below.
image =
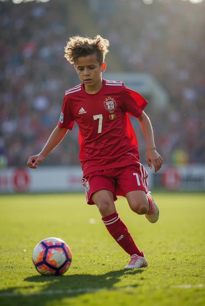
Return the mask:
{"type": "Polygon", "coordinates": [[[148,116],[142,112],[142,115],[140,117],[137,118],[142,131],[144,133],[145,136],[145,140],[146,140],[146,160],[147,160],[147,164],[149,166],[149,168],[152,168],[152,164],[154,166],[154,170],[155,172],[159,171],[162,164],[163,164],[163,160],[161,158],[161,156],[156,152],[156,147],[154,144],[154,137],[153,137],[153,129],[152,129],[152,125],[151,122],[148,118],[148,116]]]}

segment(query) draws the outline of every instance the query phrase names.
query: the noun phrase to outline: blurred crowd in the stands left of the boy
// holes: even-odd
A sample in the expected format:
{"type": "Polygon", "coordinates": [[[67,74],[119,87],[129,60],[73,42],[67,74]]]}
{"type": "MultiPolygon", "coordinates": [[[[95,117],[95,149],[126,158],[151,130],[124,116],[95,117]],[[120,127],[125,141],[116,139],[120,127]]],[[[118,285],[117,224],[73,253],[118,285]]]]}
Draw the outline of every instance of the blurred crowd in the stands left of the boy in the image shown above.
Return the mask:
{"type": "MultiPolygon", "coordinates": [[[[0,2],[0,27],[0,165],[25,166],[56,127],[65,90],[79,84],[63,57],[79,29],[66,0],[0,2]]],[[[76,140],[75,127],[44,164],[77,163],[76,140]]]]}

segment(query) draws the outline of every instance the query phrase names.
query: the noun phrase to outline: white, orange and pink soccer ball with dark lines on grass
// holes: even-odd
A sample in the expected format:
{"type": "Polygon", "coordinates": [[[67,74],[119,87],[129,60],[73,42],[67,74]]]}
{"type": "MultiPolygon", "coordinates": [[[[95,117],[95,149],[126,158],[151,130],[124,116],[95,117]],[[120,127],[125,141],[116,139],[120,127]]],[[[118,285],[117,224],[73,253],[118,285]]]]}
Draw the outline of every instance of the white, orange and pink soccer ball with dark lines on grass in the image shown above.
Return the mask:
{"type": "Polygon", "coordinates": [[[51,237],[35,246],[32,260],[40,274],[62,275],[70,268],[72,253],[63,240],[51,237]]]}

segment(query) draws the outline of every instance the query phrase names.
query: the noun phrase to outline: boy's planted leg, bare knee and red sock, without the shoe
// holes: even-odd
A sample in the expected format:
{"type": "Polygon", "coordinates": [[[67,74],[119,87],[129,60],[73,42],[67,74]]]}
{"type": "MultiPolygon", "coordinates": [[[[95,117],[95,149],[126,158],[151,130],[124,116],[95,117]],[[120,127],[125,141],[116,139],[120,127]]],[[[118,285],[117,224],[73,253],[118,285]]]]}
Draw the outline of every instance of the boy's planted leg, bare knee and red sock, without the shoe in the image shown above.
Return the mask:
{"type": "Polygon", "coordinates": [[[110,235],[130,256],[137,254],[144,257],[144,254],[137,248],[132,239],[127,227],[120,219],[113,199],[113,192],[101,189],[91,196],[92,201],[99,208],[102,215],[103,223],[105,224],[110,235]]]}

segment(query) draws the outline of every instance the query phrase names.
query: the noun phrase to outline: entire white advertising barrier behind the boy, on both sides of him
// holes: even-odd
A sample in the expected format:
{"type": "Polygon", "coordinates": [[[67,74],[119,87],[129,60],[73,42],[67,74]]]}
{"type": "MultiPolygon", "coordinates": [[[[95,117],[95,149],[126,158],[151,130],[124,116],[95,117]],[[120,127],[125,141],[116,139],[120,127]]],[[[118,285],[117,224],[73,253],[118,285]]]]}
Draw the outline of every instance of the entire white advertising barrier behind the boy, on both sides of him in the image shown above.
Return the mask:
{"type": "MultiPolygon", "coordinates": [[[[179,191],[205,191],[205,165],[167,167],[154,173],[146,167],[153,188],[179,191]]],[[[40,166],[38,169],[0,169],[0,193],[84,192],[79,166],[40,166]]]]}

